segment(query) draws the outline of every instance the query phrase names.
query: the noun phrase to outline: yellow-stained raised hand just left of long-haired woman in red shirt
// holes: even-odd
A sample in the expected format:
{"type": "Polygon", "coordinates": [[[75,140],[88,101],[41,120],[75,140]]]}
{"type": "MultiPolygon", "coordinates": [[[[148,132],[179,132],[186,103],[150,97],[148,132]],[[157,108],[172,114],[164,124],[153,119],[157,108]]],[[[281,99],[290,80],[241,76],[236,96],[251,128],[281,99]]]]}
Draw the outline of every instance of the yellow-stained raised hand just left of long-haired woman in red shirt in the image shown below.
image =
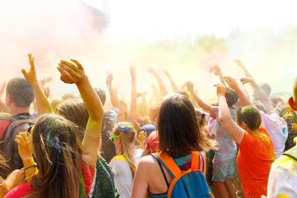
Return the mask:
{"type": "Polygon", "coordinates": [[[29,149],[29,137],[27,135],[27,132],[20,132],[17,136],[15,136],[14,141],[18,145],[18,152],[20,157],[23,160],[28,159],[29,157],[32,157],[32,153],[29,149]]]}

